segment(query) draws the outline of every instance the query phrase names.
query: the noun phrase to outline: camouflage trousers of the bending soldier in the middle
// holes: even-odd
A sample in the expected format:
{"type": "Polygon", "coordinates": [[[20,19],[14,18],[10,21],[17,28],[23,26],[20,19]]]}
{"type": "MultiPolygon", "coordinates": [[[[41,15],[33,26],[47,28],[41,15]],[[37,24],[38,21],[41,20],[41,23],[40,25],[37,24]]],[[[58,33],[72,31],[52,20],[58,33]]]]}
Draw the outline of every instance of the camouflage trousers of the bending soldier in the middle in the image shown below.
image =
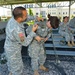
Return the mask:
{"type": "Polygon", "coordinates": [[[28,48],[29,56],[31,57],[31,66],[33,71],[38,70],[39,65],[43,65],[46,60],[44,45],[31,44],[28,48]]]}

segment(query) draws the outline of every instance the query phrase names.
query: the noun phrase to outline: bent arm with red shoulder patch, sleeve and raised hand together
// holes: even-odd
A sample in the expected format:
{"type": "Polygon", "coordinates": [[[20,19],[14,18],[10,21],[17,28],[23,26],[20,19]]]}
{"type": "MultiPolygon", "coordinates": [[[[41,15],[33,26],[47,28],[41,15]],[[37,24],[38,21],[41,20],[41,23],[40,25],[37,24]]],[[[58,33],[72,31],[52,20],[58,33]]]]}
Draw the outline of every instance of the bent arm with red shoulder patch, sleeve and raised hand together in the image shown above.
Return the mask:
{"type": "Polygon", "coordinates": [[[37,27],[33,26],[32,31],[29,33],[27,37],[25,36],[25,32],[23,32],[19,28],[17,28],[17,30],[15,29],[13,34],[18,43],[22,44],[23,46],[28,46],[33,40],[33,37],[35,37],[36,35],[36,33],[34,32],[36,29],[37,27]]]}

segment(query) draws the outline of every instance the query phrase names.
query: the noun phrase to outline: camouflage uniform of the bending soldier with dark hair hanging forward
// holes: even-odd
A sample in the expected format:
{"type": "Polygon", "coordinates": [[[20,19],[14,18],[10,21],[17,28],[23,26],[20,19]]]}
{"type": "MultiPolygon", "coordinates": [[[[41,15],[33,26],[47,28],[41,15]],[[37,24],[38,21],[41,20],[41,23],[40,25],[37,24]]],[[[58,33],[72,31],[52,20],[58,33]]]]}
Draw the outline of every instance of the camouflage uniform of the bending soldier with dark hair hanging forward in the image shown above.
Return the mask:
{"type": "MultiPolygon", "coordinates": [[[[38,29],[36,31],[36,35],[40,36],[42,38],[50,37],[51,36],[51,30],[46,26],[46,22],[38,22],[37,23],[38,29]]],[[[30,33],[32,29],[32,26],[29,26],[27,31],[27,34],[30,33]]],[[[37,40],[33,39],[33,41],[30,43],[29,48],[29,56],[31,57],[31,65],[32,69],[38,70],[38,66],[43,65],[46,59],[46,53],[45,53],[45,46],[44,46],[44,40],[41,40],[38,42],[37,40]]]]}

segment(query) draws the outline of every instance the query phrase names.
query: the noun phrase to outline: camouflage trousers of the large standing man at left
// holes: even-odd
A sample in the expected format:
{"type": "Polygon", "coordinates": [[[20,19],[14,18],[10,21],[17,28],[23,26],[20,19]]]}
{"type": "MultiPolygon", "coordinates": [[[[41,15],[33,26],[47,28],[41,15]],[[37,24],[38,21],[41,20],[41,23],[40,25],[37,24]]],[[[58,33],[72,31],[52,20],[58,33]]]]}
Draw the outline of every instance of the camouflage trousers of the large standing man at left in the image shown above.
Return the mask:
{"type": "Polygon", "coordinates": [[[23,62],[21,57],[21,48],[6,47],[5,53],[8,61],[8,70],[12,75],[22,75],[23,62]]]}

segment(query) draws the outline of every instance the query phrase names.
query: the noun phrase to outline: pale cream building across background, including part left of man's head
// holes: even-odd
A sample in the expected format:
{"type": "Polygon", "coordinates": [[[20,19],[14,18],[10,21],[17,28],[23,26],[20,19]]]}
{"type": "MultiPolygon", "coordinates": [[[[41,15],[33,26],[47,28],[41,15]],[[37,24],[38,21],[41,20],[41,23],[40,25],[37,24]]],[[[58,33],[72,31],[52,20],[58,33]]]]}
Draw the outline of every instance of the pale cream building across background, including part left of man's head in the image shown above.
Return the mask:
{"type": "MultiPolygon", "coordinates": [[[[51,16],[57,16],[61,18],[61,20],[64,16],[69,16],[69,7],[57,7],[55,4],[53,4],[52,6],[51,5],[48,6],[48,4],[42,4],[42,8],[40,8],[38,4],[24,4],[22,6],[24,6],[27,9],[27,11],[29,11],[29,8],[31,8],[34,16],[36,15],[40,16],[40,14],[42,14],[43,17],[47,17],[47,14],[50,14],[51,16]]],[[[11,10],[7,10],[6,12],[3,13],[2,16],[11,16],[11,10]]],[[[70,18],[73,18],[74,16],[75,16],[75,8],[71,8],[70,18]]]]}

